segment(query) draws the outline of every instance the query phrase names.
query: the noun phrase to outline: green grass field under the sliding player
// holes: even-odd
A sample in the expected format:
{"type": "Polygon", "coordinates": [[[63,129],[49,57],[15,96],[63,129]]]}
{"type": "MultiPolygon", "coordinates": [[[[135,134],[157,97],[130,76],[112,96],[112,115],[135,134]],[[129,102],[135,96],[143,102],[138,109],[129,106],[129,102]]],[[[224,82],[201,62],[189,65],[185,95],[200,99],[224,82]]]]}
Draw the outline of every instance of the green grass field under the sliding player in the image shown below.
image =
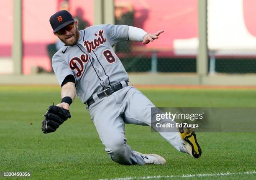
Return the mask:
{"type": "MultiPolygon", "coordinates": [[[[256,106],[256,90],[141,91],[159,107],[256,106]]],[[[151,133],[150,127],[129,124],[128,144],[143,153],[162,155],[167,164],[118,165],[104,151],[79,99],[71,106],[71,119],[56,132],[43,134],[41,121],[52,101],[59,103],[59,87],[0,86],[0,172],[31,172],[29,179],[35,180],[256,179],[256,133],[197,133],[202,157],[193,159],[175,150],[160,134],[151,133]],[[234,174],[218,174],[227,172],[234,174]],[[201,175],[187,176],[196,174],[201,175]]]]}

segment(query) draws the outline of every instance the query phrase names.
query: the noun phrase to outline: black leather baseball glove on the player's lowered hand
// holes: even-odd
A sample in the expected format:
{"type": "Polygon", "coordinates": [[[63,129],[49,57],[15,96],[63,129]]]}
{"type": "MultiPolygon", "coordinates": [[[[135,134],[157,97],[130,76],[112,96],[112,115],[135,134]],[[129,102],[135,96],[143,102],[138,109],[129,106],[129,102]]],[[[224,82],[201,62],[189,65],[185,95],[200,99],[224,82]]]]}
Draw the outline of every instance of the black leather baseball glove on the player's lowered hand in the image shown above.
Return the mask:
{"type": "Polygon", "coordinates": [[[44,134],[54,132],[64,121],[71,118],[70,112],[59,106],[49,106],[48,111],[44,114],[42,121],[42,131],[44,134]]]}

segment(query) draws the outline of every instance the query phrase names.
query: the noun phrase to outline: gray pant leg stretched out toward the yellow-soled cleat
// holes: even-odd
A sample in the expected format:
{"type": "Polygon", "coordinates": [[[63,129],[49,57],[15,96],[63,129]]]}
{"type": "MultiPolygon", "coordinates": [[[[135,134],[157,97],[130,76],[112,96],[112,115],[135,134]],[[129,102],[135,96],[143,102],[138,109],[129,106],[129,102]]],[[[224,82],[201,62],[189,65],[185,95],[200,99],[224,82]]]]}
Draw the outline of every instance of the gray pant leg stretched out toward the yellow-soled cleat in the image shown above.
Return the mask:
{"type": "MultiPolygon", "coordinates": [[[[151,125],[151,107],[155,107],[154,104],[143,95],[138,89],[132,87],[124,95],[124,104],[126,103],[124,119],[133,124],[146,123],[151,125]],[[133,121],[131,120],[133,119],[133,121]]],[[[177,129],[175,129],[177,130],[177,129]]],[[[173,145],[178,151],[184,152],[177,132],[159,132],[171,145],[173,145]]]]}

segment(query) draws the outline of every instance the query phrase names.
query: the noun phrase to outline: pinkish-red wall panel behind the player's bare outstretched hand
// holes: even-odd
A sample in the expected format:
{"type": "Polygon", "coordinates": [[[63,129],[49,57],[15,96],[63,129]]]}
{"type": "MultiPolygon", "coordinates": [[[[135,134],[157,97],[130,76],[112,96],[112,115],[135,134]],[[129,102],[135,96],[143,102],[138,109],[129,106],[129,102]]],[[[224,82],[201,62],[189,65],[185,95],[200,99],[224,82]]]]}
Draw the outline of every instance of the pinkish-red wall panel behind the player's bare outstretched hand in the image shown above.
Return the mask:
{"type": "Polygon", "coordinates": [[[197,0],[160,0],[158,3],[156,0],[129,1],[134,7],[135,26],[148,33],[164,30],[161,37],[147,47],[172,48],[174,39],[197,37],[197,0]]]}

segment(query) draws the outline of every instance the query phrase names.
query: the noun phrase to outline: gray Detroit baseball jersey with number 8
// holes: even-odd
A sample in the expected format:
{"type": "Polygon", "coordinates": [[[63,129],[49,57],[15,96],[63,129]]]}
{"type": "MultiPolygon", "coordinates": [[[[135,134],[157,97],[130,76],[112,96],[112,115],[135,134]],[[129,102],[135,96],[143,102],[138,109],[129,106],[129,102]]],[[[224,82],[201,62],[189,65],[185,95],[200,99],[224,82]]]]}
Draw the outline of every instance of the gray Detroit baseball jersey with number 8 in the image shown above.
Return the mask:
{"type": "Polygon", "coordinates": [[[55,53],[52,67],[59,84],[66,76],[74,75],[77,96],[86,102],[95,92],[128,81],[128,74],[112,48],[128,40],[128,26],[95,25],[79,33],[77,44],[64,46],[55,53]]]}

